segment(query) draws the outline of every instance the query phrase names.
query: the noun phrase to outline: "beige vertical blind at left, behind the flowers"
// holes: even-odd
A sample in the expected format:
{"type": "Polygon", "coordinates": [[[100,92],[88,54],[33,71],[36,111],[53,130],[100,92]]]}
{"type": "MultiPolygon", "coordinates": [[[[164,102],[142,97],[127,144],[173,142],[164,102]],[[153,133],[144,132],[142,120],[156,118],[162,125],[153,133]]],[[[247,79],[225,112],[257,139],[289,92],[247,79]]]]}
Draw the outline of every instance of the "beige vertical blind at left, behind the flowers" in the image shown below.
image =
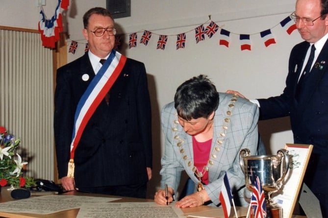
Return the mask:
{"type": "Polygon", "coordinates": [[[0,126],[21,139],[26,175],[53,180],[52,50],[40,34],[0,29],[0,126]]]}

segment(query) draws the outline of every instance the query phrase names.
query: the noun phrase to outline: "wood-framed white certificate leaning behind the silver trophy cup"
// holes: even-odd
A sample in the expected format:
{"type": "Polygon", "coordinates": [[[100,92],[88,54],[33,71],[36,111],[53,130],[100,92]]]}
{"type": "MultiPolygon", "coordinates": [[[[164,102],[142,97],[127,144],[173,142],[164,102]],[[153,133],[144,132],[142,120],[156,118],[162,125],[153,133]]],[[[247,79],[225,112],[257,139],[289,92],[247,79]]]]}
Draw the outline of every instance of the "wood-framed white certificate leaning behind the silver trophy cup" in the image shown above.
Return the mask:
{"type": "Polygon", "coordinates": [[[291,218],[300,193],[305,170],[312,152],[313,145],[286,144],[284,147],[290,155],[289,170],[284,178],[283,185],[273,197],[282,208],[284,218],[291,218]]]}

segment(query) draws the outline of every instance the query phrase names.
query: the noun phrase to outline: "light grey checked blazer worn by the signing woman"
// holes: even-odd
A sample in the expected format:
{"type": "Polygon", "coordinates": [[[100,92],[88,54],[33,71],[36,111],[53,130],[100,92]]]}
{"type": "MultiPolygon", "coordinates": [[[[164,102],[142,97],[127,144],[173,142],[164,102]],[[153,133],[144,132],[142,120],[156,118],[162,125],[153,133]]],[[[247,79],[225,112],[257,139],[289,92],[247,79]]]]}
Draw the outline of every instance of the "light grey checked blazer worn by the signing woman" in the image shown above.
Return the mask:
{"type": "MultiPolygon", "coordinates": [[[[250,101],[219,93],[219,107],[214,116],[214,135],[211,145],[209,165],[209,184],[205,190],[211,198],[212,205],[220,203],[219,194],[225,172],[227,172],[231,191],[236,205],[247,205],[243,198],[245,185],[244,174],[239,164],[239,151],[249,148],[256,152],[258,141],[257,121],[258,107],[250,101]]],[[[161,159],[161,186],[168,184],[174,190],[180,182],[181,171],[198,184],[199,180],[192,170],[194,155],[192,137],[183,131],[177,121],[177,110],[174,102],[165,105],[161,111],[161,123],[165,136],[165,151],[161,159]]]]}

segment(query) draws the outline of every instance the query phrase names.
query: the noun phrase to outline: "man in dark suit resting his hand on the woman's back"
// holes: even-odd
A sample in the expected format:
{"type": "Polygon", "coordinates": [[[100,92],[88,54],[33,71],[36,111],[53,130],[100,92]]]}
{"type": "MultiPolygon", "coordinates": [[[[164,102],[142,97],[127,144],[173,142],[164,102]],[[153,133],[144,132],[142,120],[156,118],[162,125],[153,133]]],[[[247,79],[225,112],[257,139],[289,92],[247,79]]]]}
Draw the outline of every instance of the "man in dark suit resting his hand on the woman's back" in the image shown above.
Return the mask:
{"type": "Polygon", "coordinates": [[[297,0],[291,18],[305,41],[291,51],[286,87],[280,96],[254,101],[260,106],[260,120],[290,116],[294,143],[313,145],[304,182],[319,199],[324,217],[328,216],[327,14],[328,0],[297,0]]]}

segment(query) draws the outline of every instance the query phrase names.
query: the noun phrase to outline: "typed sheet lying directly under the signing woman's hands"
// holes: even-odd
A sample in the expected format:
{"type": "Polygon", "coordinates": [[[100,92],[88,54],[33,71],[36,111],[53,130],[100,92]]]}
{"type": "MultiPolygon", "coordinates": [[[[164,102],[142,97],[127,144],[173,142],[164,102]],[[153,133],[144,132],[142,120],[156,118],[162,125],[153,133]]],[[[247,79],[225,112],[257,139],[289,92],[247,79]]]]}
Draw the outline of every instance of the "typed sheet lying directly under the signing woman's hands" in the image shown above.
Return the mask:
{"type": "Polygon", "coordinates": [[[155,202],[82,204],[76,218],[185,218],[174,203],[158,205],[155,202]]]}

